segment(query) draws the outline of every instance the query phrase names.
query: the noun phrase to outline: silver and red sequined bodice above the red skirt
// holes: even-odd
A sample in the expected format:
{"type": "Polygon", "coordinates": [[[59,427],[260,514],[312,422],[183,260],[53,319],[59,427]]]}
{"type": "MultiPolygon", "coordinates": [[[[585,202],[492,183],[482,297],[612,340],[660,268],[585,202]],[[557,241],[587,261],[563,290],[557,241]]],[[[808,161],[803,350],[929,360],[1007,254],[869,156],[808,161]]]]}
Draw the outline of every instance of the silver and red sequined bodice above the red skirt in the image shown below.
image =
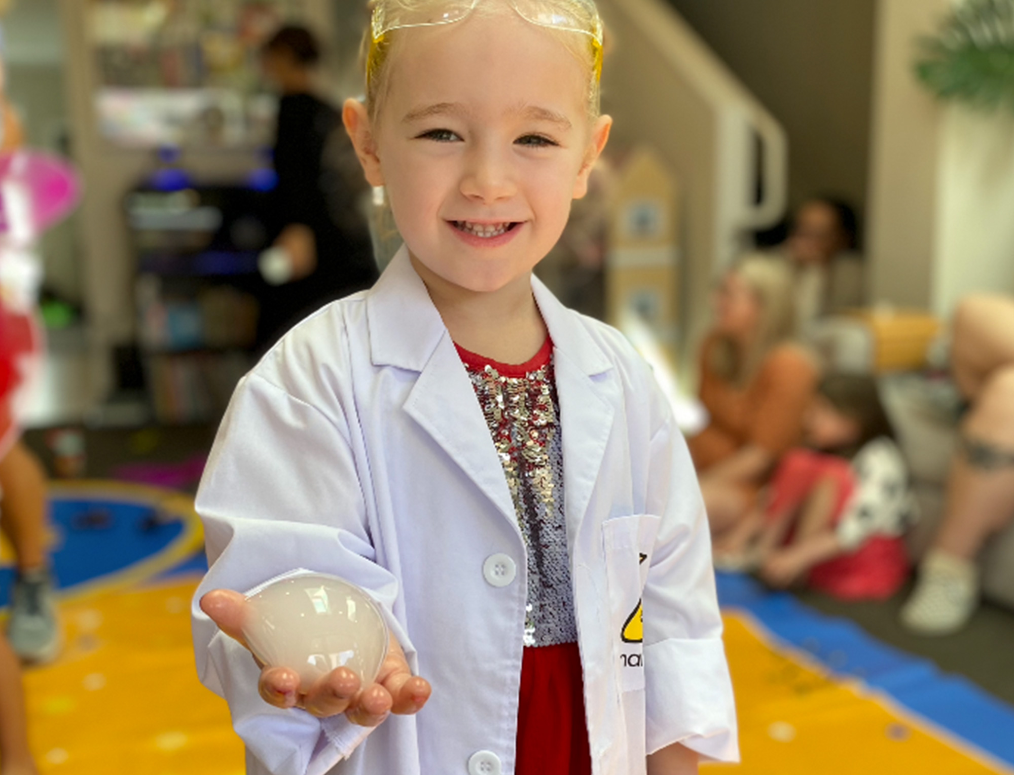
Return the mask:
{"type": "Polygon", "coordinates": [[[553,342],[547,338],[520,366],[461,347],[458,353],[493,436],[527,549],[524,645],[575,642],[553,342]]]}

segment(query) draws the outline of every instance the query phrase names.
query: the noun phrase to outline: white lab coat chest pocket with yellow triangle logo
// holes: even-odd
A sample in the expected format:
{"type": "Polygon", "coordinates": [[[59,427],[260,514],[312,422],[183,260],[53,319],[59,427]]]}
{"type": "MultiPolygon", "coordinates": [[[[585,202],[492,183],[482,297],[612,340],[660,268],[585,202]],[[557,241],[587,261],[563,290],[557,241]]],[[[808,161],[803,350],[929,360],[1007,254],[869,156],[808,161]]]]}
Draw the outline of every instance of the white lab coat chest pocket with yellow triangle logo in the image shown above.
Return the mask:
{"type": "Polygon", "coordinates": [[[644,616],[641,594],[648,580],[660,518],[651,514],[614,517],[602,523],[602,547],[609,596],[609,639],[621,691],[644,688],[644,616]]]}

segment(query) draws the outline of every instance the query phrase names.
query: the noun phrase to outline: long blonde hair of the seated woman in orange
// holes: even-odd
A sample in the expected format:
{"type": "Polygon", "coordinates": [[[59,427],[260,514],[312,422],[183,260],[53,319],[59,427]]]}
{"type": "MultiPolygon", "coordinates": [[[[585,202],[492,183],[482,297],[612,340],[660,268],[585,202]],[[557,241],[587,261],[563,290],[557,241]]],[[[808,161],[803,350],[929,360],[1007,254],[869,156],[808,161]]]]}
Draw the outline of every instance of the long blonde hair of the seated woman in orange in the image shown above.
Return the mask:
{"type": "Polygon", "coordinates": [[[760,307],[756,336],[746,352],[728,336],[721,336],[711,356],[711,367],[722,379],[745,385],[756,374],[768,354],[796,331],[796,298],[792,269],[787,262],[765,253],[740,258],[730,273],[749,288],[760,307]]]}

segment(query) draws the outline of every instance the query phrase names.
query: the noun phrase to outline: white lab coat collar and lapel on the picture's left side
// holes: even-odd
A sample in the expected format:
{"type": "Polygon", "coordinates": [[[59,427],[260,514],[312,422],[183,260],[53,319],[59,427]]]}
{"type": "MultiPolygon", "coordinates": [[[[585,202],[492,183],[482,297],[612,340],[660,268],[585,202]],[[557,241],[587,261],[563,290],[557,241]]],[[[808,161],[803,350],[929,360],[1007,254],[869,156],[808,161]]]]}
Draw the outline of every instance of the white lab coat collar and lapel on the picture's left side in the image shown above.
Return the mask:
{"type": "Polygon", "coordinates": [[[475,389],[406,248],[391,259],[366,304],[373,365],[419,372],[404,410],[516,529],[507,479],[475,389]]]}

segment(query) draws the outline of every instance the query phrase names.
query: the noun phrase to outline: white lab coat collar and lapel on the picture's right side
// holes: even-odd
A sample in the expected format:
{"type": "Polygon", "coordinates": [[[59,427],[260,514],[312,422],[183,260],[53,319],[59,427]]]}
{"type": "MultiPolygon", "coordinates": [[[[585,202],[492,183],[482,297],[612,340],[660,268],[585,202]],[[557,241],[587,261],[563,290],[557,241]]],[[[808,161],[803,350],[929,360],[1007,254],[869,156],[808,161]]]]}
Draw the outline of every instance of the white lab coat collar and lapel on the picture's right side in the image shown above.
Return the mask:
{"type": "Polygon", "coordinates": [[[612,363],[577,313],[564,307],[537,279],[532,290],[554,343],[564,446],[564,513],[571,542],[584,519],[612,429],[612,363]]]}

